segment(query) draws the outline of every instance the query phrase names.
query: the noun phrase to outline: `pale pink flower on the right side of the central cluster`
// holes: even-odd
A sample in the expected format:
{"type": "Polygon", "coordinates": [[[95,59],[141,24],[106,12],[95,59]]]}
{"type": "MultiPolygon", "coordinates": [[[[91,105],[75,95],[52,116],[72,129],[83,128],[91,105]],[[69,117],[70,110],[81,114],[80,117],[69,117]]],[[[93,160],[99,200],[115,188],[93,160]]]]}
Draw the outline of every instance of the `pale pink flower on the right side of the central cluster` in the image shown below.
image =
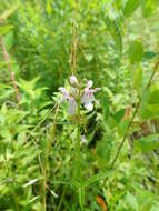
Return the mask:
{"type": "Polygon", "coordinates": [[[89,111],[92,111],[93,109],[93,101],[96,101],[93,93],[99,91],[99,88],[90,89],[92,87],[93,82],[90,80],[87,83],[87,87],[83,90],[83,94],[81,98],[81,103],[85,105],[85,108],[89,111]]]}

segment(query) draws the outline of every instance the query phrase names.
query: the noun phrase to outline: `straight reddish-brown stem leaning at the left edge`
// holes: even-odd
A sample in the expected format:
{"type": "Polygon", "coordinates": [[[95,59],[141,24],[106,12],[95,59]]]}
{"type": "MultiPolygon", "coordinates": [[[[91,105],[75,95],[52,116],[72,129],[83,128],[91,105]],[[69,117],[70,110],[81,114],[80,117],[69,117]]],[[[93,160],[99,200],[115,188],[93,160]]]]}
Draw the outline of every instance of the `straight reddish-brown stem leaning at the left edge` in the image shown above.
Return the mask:
{"type": "Polygon", "coordinates": [[[19,105],[20,93],[19,93],[18,87],[17,87],[17,82],[16,82],[16,78],[14,78],[14,72],[11,69],[9,54],[7,52],[7,49],[6,49],[6,46],[4,46],[4,40],[3,40],[2,36],[0,37],[0,44],[1,44],[1,48],[2,48],[2,53],[3,53],[4,61],[8,64],[8,71],[10,73],[10,78],[11,78],[11,81],[12,81],[12,84],[13,84],[13,89],[14,89],[14,92],[16,92],[17,102],[18,102],[18,105],[19,105]]]}

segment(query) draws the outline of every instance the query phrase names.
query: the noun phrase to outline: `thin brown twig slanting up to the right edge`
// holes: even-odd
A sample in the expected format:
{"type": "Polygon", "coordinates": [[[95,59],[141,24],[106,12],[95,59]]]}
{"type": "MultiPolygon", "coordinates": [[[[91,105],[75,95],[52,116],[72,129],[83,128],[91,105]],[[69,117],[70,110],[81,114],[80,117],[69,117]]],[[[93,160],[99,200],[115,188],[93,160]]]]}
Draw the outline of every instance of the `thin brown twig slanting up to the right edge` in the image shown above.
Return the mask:
{"type": "MultiPolygon", "coordinates": [[[[155,74],[156,74],[156,72],[157,72],[158,67],[159,67],[159,60],[155,63],[153,71],[152,71],[152,73],[151,73],[151,76],[150,76],[150,79],[149,79],[147,86],[146,86],[146,89],[148,89],[148,88],[151,86],[152,79],[153,79],[153,77],[155,77],[155,74]]],[[[140,103],[141,103],[141,99],[140,99],[140,97],[139,97],[137,107],[136,107],[135,112],[133,112],[133,114],[132,114],[132,117],[131,117],[130,123],[128,124],[127,132],[125,133],[123,139],[122,139],[122,141],[121,141],[121,143],[119,144],[119,148],[118,148],[118,150],[117,150],[116,157],[115,157],[115,159],[112,160],[112,163],[111,163],[111,165],[110,165],[111,169],[113,169],[115,163],[116,163],[116,161],[118,160],[119,153],[120,153],[120,151],[121,151],[121,149],[122,149],[122,147],[123,147],[126,140],[127,140],[129,130],[130,130],[130,128],[131,128],[131,125],[132,125],[132,123],[133,123],[133,120],[135,120],[135,118],[136,118],[138,111],[139,111],[140,103]]]]}

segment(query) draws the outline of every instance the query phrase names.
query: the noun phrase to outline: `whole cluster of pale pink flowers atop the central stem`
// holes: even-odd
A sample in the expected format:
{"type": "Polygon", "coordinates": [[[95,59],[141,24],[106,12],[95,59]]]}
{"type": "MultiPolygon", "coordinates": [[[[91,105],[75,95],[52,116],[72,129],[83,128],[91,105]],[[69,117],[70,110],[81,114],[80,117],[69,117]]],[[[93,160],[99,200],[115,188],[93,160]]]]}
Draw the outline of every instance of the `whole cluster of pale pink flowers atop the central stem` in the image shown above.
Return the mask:
{"type": "Polygon", "coordinates": [[[68,101],[68,113],[74,115],[78,108],[78,98],[80,103],[89,111],[93,110],[95,92],[99,91],[99,88],[91,89],[93,82],[89,80],[85,89],[81,90],[79,81],[74,76],[70,77],[71,89],[60,87],[59,91],[62,93],[62,101],[68,101]]]}

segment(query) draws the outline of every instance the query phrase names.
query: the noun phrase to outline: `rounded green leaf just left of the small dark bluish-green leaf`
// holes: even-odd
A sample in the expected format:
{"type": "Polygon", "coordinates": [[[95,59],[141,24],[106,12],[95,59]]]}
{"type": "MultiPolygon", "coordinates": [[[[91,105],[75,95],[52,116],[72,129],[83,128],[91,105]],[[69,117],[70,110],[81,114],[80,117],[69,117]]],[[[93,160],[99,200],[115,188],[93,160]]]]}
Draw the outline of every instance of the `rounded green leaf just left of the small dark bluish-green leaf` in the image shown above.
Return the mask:
{"type": "Polygon", "coordinates": [[[143,46],[140,40],[135,40],[130,42],[129,46],[129,59],[130,62],[140,62],[143,57],[143,46]]]}

